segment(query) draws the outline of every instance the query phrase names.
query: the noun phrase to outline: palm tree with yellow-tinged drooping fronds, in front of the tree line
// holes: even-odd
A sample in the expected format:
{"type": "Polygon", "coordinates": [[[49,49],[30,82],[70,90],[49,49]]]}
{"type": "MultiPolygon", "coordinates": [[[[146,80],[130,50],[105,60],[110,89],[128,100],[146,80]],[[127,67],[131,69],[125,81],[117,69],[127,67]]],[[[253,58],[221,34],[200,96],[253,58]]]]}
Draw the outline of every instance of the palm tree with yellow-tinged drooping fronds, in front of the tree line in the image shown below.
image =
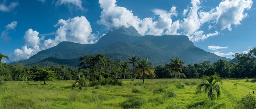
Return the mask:
{"type": "Polygon", "coordinates": [[[136,72],[140,73],[142,76],[142,81],[144,84],[144,74],[149,74],[151,73],[155,77],[155,69],[152,66],[152,63],[148,62],[148,59],[146,58],[145,60],[138,60],[138,65],[136,66],[136,72]]]}

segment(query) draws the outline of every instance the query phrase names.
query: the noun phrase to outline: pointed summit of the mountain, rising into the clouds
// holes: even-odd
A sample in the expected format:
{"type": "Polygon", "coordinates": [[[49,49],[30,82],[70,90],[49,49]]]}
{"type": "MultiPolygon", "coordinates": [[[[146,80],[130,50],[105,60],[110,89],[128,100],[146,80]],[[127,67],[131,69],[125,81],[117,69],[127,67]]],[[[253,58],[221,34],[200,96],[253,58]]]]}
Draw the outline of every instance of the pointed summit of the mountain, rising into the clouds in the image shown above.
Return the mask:
{"type": "Polygon", "coordinates": [[[109,33],[111,33],[111,34],[124,34],[124,35],[129,35],[129,36],[141,36],[133,26],[130,26],[128,28],[122,26],[118,29],[112,28],[112,29],[109,30],[109,33]]]}

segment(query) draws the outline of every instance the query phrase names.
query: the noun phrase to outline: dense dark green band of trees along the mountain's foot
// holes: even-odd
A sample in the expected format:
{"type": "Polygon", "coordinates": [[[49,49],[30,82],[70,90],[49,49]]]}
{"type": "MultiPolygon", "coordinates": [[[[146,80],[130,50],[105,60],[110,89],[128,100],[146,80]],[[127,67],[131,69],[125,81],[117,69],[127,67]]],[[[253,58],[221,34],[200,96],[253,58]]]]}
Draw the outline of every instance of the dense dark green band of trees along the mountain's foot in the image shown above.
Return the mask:
{"type": "MultiPolygon", "coordinates": [[[[8,56],[0,54],[2,58],[8,56]]],[[[127,57],[128,62],[122,59],[113,61],[105,55],[85,55],[79,59],[79,69],[62,66],[39,68],[38,66],[24,66],[21,63],[14,65],[0,63],[0,81],[54,81],[54,80],[78,80],[83,77],[90,84],[118,84],[119,79],[136,78],[200,78],[202,75],[210,75],[213,72],[220,74],[222,78],[255,78],[256,76],[256,48],[247,54],[236,53],[233,55],[237,63],[219,59],[211,64],[205,61],[199,64],[183,66],[185,62],[173,57],[170,63],[158,65],[153,68],[148,59],[140,59],[136,56],[127,57]],[[179,65],[174,69],[173,65],[179,65]],[[134,69],[135,68],[135,69],[134,69]]],[[[44,82],[45,83],[45,82],[44,82]]]]}

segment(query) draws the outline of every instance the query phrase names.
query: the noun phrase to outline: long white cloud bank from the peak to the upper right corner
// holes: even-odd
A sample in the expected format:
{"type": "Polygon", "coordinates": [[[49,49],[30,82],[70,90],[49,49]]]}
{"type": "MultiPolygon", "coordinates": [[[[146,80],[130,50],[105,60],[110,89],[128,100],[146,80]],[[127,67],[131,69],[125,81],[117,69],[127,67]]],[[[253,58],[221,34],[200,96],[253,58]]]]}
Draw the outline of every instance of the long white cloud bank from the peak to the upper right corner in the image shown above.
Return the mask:
{"type": "Polygon", "coordinates": [[[99,0],[103,10],[97,23],[105,25],[108,29],[134,26],[141,35],[187,35],[191,41],[198,42],[219,35],[219,30],[228,28],[231,31],[232,25],[240,25],[240,21],[248,17],[244,10],[251,8],[252,0],[223,0],[210,11],[201,9],[200,0],[191,0],[190,3],[191,6],[181,14],[184,18],[173,21],[172,17],[178,16],[175,6],[169,11],[152,9],[156,17],[141,19],[133,15],[131,10],[117,6],[116,0],[99,0]],[[216,31],[203,34],[204,31],[200,30],[200,27],[205,23],[208,23],[209,29],[215,27],[216,31]]]}

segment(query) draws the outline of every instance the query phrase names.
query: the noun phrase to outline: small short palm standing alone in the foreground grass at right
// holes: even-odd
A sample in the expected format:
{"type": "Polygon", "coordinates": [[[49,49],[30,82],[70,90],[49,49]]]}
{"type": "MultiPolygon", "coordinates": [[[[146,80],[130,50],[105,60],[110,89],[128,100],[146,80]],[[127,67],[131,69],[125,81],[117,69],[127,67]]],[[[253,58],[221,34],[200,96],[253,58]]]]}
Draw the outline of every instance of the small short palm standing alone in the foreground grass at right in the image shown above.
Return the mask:
{"type": "Polygon", "coordinates": [[[220,77],[219,73],[212,73],[211,76],[203,75],[201,83],[198,85],[198,90],[201,90],[203,88],[204,92],[207,92],[208,97],[211,98],[211,100],[215,97],[215,92],[217,94],[217,97],[221,95],[221,89],[219,83],[222,84],[222,79],[220,77]]]}

